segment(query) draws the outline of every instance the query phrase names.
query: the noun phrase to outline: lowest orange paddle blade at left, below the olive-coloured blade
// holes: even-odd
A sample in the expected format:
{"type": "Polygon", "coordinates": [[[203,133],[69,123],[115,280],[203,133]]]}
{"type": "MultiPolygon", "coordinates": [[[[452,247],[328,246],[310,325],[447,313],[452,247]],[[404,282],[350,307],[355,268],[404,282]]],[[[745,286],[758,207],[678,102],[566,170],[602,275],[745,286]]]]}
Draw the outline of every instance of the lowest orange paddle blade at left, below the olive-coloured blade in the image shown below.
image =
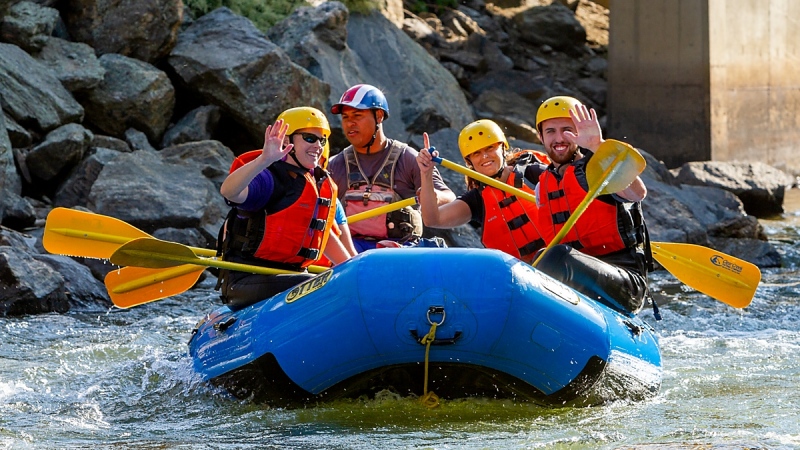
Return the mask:
{"type": "Polygon", "coordinates": [[[204,270],[193,264],[168,269],[123,267],[109,272],[105,284],[114,305],[130,308],[185,292],[204,270]]]}

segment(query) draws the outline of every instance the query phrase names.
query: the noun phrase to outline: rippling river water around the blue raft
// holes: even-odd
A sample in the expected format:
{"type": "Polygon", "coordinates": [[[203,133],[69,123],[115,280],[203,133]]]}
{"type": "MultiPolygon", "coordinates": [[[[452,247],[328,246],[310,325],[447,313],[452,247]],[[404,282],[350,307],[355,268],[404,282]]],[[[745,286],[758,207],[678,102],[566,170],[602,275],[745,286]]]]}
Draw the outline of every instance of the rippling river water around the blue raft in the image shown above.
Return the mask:
{"type": "Polygon", "coordinates": [[[199,381],[186,342],[210,288],[130,310],[0,318],[0,448],[800,448],[800,195],[762,221],[784,267],[736,310],[651,276],[661,391],[645,402],[542,408],[488,399],[433,410],[387,395],[300,410],[199,381]]]}

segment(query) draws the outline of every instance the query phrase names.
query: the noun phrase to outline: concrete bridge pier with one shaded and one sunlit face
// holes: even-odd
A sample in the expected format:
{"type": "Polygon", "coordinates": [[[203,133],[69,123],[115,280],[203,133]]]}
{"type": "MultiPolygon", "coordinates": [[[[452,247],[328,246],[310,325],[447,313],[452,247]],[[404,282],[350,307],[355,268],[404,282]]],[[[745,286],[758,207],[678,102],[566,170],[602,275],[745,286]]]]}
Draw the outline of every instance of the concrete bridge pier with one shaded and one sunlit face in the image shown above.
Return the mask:
{"type": "Polygon", "coordinates": [[[608,137],[800,173],[800,1],[611,0],[608,137]]]}

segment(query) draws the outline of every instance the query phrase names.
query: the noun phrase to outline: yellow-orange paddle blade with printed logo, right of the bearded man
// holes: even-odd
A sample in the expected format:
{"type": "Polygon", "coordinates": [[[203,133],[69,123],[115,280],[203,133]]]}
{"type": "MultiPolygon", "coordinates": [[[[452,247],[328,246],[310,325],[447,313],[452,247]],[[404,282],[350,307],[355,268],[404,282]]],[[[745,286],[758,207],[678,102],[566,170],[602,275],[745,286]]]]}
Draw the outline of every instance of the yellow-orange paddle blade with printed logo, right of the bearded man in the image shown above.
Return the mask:
{"type": "Polygon", "coordinates": [[[651,247],[675,278],[734,308],[749,305],[761,281],[755,264],[701,245],[651,242],[651,247]]]}

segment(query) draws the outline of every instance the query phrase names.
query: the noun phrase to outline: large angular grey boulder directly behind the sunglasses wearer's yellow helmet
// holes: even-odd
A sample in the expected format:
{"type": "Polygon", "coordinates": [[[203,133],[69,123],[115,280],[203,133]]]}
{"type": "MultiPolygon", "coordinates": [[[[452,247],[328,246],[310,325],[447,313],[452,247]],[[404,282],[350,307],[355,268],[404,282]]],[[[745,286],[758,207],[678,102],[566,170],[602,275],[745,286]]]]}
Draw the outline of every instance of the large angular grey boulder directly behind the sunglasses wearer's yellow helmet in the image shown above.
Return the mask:
{"type": "Polygon", "coordinates": [[[324,109],[330,88],[244,17],[218,8],[180,34],[168,64],[193,95],[217,105],[255,143],[286,109],[324,109]]]}

